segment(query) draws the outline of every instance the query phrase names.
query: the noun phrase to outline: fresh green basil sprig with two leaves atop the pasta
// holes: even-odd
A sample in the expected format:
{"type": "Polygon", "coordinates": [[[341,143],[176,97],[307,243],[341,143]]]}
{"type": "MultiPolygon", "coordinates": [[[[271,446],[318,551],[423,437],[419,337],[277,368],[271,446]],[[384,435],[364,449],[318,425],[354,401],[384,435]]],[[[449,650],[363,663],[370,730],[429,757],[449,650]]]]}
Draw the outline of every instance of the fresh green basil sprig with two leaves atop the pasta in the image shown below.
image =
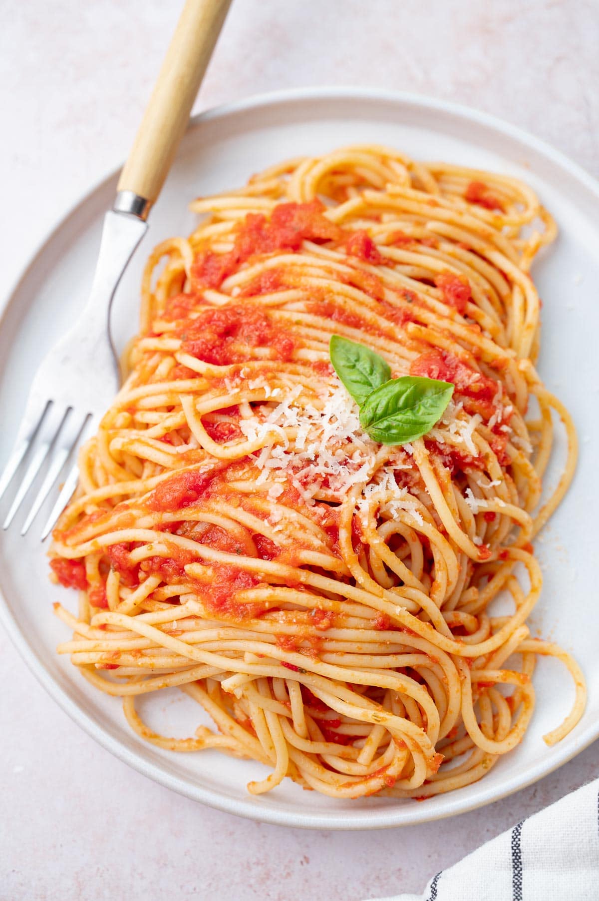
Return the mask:
{"type": "Polygon", "coordinates": [[[450,382],[436,378],[389,378],[391,369],[374,350],[331,338],[331,363],[360,408],[365,432],[380,444],[407,444],[439,422],[453,394],[450,382]]]}

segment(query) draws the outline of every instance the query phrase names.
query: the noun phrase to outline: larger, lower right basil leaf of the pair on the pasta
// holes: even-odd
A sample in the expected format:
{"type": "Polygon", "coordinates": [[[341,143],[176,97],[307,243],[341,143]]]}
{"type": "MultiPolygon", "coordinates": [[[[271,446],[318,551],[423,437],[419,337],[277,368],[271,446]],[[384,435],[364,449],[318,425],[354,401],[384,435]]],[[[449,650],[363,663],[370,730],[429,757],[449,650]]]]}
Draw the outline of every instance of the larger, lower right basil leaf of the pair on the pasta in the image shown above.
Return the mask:
{"type": "Polygon", "coordinates": [[[392,378],[368,395],[360,409],[360,424],[381,444],[415,441],[440,420],[453,388],[436,378],[392,378]]]}

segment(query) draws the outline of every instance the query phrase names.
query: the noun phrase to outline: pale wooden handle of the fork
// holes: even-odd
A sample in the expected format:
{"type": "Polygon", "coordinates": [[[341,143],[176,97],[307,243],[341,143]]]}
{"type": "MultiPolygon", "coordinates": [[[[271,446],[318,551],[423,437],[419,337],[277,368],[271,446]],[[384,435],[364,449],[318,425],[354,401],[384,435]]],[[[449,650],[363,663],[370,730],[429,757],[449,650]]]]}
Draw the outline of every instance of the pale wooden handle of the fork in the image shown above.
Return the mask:
{"type": "MultiPolygon", "coordinates": [[[[231,0],[186,0],[117,191],[158,198],[231,0]]],[[[142,218],[145,214],[140,211],[142,218]]]]}

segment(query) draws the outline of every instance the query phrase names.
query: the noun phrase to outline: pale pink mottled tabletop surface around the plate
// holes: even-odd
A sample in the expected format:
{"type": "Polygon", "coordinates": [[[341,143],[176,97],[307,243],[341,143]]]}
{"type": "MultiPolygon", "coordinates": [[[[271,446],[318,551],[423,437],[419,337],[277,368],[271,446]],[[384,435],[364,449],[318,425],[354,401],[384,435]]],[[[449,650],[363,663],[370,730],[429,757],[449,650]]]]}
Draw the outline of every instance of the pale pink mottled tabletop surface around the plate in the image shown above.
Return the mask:
{"type": "MultiPolygon", "coordinates": [[[[0,300],[51,224],[123,159],[178,6],[5,0],[0,300]]],[[[196,108],[286,86],[421,91],[502,115],[599,175],[598,41],[593,0],[236,0],[196,108]]],[[[538,785],[454,820],[307,833],[196,805],[113,760],[50,701],[3,634],[0,677],[0,898],[11,901],[420,891],[599,770],[597,743],[538,785]]]]}

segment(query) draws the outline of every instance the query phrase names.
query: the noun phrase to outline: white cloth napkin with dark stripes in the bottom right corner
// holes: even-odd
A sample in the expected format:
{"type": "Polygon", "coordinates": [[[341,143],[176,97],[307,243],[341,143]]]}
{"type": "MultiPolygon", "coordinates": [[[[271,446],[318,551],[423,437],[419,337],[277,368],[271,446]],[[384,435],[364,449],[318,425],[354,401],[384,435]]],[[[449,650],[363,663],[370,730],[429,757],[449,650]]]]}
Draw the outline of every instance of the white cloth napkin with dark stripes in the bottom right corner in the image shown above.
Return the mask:
{"type": "Polygon", "coordinates": [[[599,901],[599,779],[431,879],[378,901],[599,901]]]}

